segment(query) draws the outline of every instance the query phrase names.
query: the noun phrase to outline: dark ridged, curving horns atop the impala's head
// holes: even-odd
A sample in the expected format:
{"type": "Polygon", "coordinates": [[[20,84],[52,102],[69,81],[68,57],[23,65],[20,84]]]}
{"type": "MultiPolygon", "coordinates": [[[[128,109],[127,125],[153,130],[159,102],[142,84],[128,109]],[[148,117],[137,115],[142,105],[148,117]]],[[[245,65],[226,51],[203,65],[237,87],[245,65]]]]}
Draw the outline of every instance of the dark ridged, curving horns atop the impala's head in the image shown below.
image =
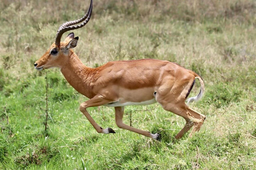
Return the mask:
{"type": "Polygon", "coordinates": [[[57,46],[60,45],[60,40],[61,40],[61,36],[63,35],[63,33],[70,31],[70,30],[82,28],[82,27],[84,27],[84,25],[86,25],[87,22],[89,22],[91,15],[92,15],[92,1],[93,0],[91,0],[91,4],[90,4],[90,7],[89,7],[87,13],[81,19],[69,21],[69,22],[66,22],[66,23],[63,23],[62,25],[60,25],[60,27],[57,31],[56,38],[55,38],[55,45],[57,45],[57,46]],[[74,25],[74,24],[77,24],[80,22],[82,22],[82,23],[79,25],[74,25]]]}

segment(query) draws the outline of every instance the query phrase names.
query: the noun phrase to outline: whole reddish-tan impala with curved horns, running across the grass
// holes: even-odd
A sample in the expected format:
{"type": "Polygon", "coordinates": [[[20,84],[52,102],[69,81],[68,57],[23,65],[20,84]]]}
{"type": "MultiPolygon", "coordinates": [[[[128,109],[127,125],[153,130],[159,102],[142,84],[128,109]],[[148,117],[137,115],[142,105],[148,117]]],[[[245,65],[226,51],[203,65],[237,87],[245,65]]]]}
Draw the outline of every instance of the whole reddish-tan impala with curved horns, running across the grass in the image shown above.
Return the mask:
{"type": "Polygon", "coordinates": [[[194,127],[190,137],[198,131],[205,116],[185,104],[196,78],[201,83],[201,90],[197,96],[189,98],[188,103],[203,96],[204,82],[195,72],[169,61],[154,59],[113,61],[97,68],[90,68],[79,60],[72,49],[78,42],[78,37],[75,37],[73,32],[61,42],[63,33],[83,27],[90,20],[91,14],[92,0],[83,18],[60,26],[55,43],[35,62],[35,69],[41,71],[51,67],[60,68],[70,85],[89,98],[79,108],[98,133],[115,133],[111,128],[101,128],[86,111],[88,107],[103,105],[115,107],[115,121],[119,128],[159,139],[158,133],[139,130],[122,121],[125,106],[150,105],[156,102],[166,111],[185,118],[186,124],[175,136],[176,139],[181,138],[192,126],[194,127]]]}

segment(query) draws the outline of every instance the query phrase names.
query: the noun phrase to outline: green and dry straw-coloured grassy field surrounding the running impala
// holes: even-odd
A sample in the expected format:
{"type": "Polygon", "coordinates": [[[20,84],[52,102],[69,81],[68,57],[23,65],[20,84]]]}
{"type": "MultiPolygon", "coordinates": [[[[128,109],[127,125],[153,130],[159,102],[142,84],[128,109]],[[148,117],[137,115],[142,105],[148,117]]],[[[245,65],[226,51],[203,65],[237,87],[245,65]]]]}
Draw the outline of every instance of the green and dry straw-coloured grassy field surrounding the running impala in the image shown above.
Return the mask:
{"type": "MultiPolygon", "coordinates": [[[[118,129],[111,107],[88,109],[117,132],[98,134],[79,111],[87,99],[60,71],[34,69],[59,25],[88,6],[89,0],[1,1],[0,169],[256,169],[255,1],[95,0],[90,22],[74,31],[74,50],[87,66],[157,58],[203,77],[205,95],[191,107],[206,121],[193,138],[175,140],[185,120],[157,104],[126,107],[124,122],[160,132],[160,142],[118,129]]],[[[197,82],[190,96],[198,88],[197,82]]]]}

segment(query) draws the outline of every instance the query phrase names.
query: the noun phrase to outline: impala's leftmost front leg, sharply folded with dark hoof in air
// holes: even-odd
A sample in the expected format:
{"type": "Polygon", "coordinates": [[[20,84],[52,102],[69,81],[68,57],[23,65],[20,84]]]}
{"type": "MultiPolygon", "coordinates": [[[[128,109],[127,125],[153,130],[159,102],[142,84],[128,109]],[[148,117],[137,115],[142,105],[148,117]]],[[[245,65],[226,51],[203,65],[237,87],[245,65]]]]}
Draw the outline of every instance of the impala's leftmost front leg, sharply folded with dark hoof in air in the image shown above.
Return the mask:
{"type": "Polygon", "coordinates": [[[105,105],[108,103],[111,103],[113,101],[107,100],[105,99],[103,96],[101,95],[96,95],[93,98],[91,98],[90,100],[85,101],[84,103],[82,103],[79,107],[80,111],[85,115],[85,117],[87,118],[87,120],[89,120],[89,122],[92,124],[93,128],[98,132],[98,133],[116,133],[113,129],[111,128],[106,128],[106,129],[102,129],[91,117],[91,115],[86,111],[86,108],[88,107],[95,107],[95,106],[101,106],[101,105],[105,105]]]}

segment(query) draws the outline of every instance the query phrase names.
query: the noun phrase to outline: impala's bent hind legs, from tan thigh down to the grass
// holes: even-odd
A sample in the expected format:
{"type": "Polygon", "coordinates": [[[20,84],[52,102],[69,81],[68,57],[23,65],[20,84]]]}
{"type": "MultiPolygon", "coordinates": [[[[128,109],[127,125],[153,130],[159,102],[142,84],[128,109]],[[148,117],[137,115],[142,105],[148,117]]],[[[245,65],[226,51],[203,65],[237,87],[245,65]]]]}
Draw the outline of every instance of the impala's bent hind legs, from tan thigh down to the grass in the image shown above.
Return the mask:
{"type": "Polygon", "coordinates": [[[189,134],[189,137],[191,137],[196,131],[199,131],[205,120],[204,115],[197,113],[185,104],[185,100],[193,87],[194,80],[194,75],[186,75],[182,79],[174,81],[174,83],[172,79],[168,79],[154,93],[156,101],[166,111],[177,114],[186,120],[184,128],[175,136],[176,139],[180,139],[194,126],[189,134]]]}

